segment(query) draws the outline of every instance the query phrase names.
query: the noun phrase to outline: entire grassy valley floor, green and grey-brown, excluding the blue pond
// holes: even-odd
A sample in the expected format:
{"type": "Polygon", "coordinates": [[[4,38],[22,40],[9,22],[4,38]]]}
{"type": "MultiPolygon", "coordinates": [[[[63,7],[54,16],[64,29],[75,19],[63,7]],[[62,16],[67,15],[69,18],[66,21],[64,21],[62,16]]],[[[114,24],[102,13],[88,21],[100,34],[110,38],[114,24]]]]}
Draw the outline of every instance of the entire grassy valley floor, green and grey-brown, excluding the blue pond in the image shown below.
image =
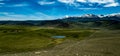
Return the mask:
{"type": "Polygon", "coordinates": [[[0,56],[120,56],[120,30],[4,31],[0,34],[0,56]],[[51,38],[56,35],[66,38],[51,38]]]}

